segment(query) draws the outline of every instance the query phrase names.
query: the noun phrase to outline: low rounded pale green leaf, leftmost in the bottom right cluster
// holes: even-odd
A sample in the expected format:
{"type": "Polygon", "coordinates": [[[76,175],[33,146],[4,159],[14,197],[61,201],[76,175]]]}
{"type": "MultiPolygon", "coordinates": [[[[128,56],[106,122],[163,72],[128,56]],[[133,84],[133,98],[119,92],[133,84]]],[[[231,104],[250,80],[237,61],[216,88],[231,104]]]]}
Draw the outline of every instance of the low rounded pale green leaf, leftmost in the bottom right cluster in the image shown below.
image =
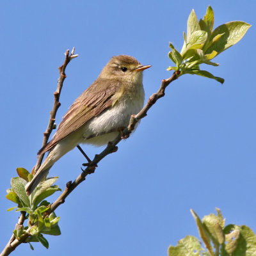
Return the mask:
{"type": "Polygon", "coordinates": [[[168,248],[168,256],[200,256],[201,252],[205,253],[200,241],[193,236],[186,236],[180,239],[177,246],[170,246],[168,248]]]}

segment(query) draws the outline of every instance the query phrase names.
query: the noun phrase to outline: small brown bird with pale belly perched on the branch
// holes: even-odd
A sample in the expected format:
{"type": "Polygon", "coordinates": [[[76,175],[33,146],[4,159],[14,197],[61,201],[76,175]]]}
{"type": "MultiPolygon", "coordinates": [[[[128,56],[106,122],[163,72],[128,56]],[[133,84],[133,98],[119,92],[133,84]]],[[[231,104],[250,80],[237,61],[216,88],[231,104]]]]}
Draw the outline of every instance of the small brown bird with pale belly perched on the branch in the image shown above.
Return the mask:
{"type": "Polygon", "coordinates": [[[108,61],[99,77],[70,106],[52,140],[39,150],[38,154],[49,154],[27,184],[28,195],[40,186],[54,163],[74,147],[106,145],[129,125],[131,115],[143,107],[143,70],[150,67],[128,55],[113,56],[108,61]]]}

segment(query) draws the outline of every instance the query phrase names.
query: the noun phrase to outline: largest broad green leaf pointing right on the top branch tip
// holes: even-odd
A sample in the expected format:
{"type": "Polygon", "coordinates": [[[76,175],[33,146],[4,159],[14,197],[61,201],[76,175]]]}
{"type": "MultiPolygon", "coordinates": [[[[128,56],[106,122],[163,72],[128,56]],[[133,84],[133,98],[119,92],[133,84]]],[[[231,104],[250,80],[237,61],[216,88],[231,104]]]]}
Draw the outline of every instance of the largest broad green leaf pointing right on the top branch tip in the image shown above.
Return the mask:
{"type": "Polygon", "coordinates": [[[216,51],[220,54],[220,52],[227,50],[228,47],[239,42],[250,27],[250,24],[243,21],[231,21],[222,24],[218,28],[214,29],[211,40],[216,38],[218,35],[223,35],[221,35],[218,40],[215,39],[215,42],[209,46],[205,53],[216,51]]]}

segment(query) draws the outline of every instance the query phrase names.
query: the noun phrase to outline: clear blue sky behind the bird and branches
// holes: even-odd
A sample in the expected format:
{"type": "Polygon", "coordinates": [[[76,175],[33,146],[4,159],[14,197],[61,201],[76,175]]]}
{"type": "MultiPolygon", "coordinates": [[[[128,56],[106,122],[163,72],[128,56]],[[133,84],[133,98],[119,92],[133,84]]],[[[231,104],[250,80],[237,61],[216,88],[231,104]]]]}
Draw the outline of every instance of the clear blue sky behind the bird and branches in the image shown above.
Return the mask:
{"type": "MultiPolygon", "coordinates": [[[[186,75],[168,87],[131,138],[56,211],[62,235],[47,237],[49,255],[166,255],[169,244],[198,236],[191,208],[202,217],[220,207],[227,223],[256,232],[255,1],[2,0],[1,249],[19,216],[6,212],[13,204],[5,190],[17,167],[36,163],[63,52],[75,46],[79,58],[68,65],[57,123],[113,55],[152,65],[144,72],[146,99],[156,92],[171,75],[168,43],[180,49],[191,9],[202,17],[209,4],[215,27],[231,20],[253,25],[216,58],[219,67],[207,67],[225,83],[186,75]]],[[[93,157],[102,148],[84,150],[93,157]]],[[[75,149],[51,175],[65,188],[81,163],[75,149]]],[[[12,255],[46,251],[22,244],[12,255]]]]}

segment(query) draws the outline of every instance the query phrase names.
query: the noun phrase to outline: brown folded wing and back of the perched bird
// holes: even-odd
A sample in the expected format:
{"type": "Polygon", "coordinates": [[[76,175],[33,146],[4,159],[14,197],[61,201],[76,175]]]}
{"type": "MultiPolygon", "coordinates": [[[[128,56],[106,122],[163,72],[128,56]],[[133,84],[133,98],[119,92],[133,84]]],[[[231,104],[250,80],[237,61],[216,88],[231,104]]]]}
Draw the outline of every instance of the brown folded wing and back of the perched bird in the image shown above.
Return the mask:
{"type": "Polygon", "coordinates": [[[115,92],[120,90],[121,86],[120,81],[98,78],[70,106],[70,109],[63,116],[63,121],[58,126],[56,134],[45,147],[39,150],[38,154],[51,150],[60,140],[109,108],[115,102],[115,92]]]}

